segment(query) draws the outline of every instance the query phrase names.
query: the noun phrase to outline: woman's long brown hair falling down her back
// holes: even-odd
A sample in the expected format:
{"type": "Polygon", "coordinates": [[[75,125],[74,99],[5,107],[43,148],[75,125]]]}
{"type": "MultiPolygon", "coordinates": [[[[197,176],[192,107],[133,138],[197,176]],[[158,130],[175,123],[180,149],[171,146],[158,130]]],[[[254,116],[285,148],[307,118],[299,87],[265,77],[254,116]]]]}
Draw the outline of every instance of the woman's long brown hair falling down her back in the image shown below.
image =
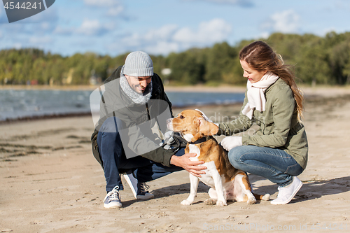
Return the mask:
{"type": "Polygon", "coordinates": [[[295,83],[292,66],[284,64],[281,55],[276,54],[267,43],[262,41],[255,41],[242,48],[239,52],[239,59],[257,71],[271,71],[290,86],[297,103],[297,120],[301,122],[304,97],[295,83]]]}

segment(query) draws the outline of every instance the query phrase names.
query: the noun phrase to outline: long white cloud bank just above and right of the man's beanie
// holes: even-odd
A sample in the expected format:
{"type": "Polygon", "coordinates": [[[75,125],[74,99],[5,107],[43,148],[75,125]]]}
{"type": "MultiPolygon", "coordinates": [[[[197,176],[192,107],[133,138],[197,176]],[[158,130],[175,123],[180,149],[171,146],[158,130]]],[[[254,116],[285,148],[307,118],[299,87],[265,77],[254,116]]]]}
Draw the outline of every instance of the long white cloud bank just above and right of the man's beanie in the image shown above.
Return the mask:
{"type": "Polygon", "coordinates": [[[158,29],[150,29],[144,34],[132,33],[125,36],[122,43],[126,50],[146,50],[152,54],[166,55],[169,52],[225,41],[231,31],[231,25],[222,19],[202,22],[197,29],[167,24],[158,29]]]}

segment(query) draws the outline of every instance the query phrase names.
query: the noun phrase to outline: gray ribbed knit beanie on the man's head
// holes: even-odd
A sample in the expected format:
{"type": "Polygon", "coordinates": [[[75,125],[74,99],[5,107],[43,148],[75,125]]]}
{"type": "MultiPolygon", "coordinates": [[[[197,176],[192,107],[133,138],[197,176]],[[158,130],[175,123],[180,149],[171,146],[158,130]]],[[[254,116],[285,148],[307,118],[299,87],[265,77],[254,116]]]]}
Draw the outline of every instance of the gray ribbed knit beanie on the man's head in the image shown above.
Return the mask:
{"type": "Polygon", "coordinates": [[[151,57],[146,52],[131,52],[125,59],[124,74],[135,77],[153,76],[151,57]]]}

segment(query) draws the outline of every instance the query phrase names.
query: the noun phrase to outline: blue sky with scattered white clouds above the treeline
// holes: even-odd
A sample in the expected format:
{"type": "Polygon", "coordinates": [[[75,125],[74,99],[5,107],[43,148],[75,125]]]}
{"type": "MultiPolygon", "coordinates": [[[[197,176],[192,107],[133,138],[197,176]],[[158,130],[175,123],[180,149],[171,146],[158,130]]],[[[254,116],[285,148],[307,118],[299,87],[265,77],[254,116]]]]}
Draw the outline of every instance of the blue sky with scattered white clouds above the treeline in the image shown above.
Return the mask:
{"type": "Polygon", "coordinates": [[[56,0],[41,13],[12,23],[0,5],[0,50],[112,57],[142,50],[166,56],[274,32],[344,33],[350,31],[349,22],[349,0],[56,0]]]}

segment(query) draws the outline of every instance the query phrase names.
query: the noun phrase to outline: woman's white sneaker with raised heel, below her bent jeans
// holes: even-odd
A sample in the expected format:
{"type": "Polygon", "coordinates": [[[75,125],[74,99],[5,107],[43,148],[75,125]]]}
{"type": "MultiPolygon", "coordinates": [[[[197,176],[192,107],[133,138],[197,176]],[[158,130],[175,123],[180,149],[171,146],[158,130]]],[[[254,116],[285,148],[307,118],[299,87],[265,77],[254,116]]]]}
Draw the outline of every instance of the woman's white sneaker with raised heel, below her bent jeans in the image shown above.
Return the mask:
{"type": "Polygon", "coordinates": [[[283,205],[288,204],[293,197],[297,194],[297,191],[302,188],[302,182],[299,178],[296,176],[293,176],[293,182],[288,185],[287,187],[278,188],[279,194],[277,195],[277,198],[274,199],[271,204],[274,205],[283,205]]]}

